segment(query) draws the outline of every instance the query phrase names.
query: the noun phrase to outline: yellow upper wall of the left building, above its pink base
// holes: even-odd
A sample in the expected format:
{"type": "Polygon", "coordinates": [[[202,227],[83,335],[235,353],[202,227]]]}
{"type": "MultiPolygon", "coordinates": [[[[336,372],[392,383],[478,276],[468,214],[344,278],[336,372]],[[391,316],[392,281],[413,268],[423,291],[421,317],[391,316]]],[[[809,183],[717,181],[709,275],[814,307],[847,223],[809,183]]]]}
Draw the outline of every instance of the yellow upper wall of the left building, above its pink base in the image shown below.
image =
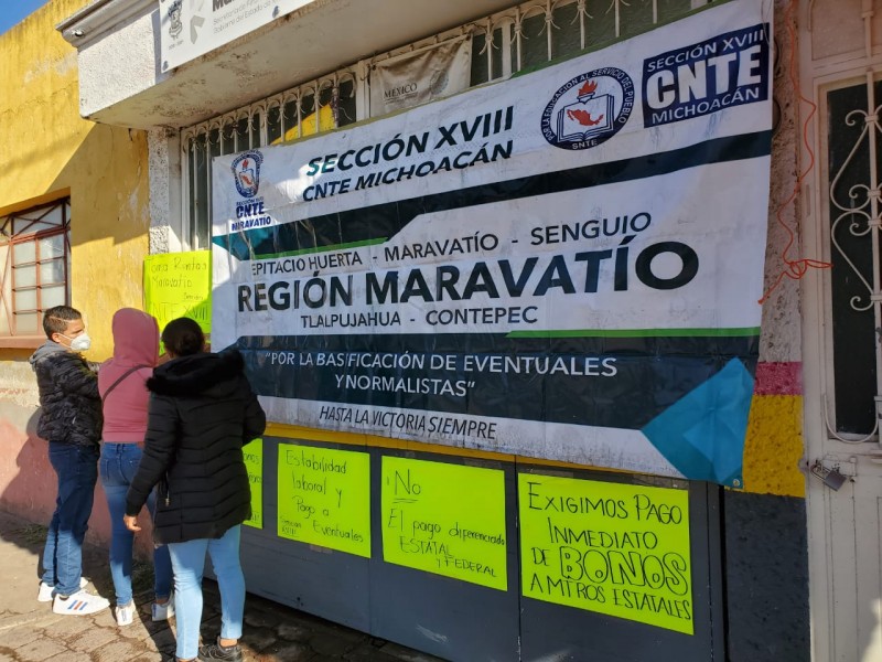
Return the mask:
{"type": "Polygon", "coordinates": [[[69,192],[72,305],[99,360],[112,312],[141,306],[149,189],[146,134],[79,117],[76,49],[55,25],[86,4],[52,0],[0,35],[0,216],[69,192]]]}

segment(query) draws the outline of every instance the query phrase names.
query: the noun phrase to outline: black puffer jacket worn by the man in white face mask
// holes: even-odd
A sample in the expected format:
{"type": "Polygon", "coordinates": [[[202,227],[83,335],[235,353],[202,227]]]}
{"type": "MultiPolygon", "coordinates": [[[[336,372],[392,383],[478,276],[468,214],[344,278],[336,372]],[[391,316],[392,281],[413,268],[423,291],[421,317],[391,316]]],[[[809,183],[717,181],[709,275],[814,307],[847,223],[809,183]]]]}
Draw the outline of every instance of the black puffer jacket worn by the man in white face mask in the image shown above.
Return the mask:
{"type": "Polygon", "coordinates": [[[36,434],[49,441],[97,446],[101,438],[101,398],[97,366],[47,340],[31,356],[40,389],[36,434]]]}

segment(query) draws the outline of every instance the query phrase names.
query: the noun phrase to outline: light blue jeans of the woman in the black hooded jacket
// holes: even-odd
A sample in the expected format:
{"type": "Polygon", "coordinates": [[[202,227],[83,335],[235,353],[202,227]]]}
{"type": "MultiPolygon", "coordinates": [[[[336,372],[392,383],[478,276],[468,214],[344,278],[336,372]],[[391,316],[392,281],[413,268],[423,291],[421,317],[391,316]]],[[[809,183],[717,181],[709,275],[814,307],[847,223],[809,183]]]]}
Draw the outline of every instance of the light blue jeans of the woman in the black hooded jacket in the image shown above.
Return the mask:
{"type": "Polygon", "coordinates": [[[205,552],[212,556],[214,574],[220,588],[220,638],[241,637],[245,611],[245,576],[239,565],[241,526],[229,528],[219,538],[198,538],[169,543],[174,568],[174,618],[178,626],[178,650],[181,660],[195,658],[202,621],[202,574],[205,552]]]}

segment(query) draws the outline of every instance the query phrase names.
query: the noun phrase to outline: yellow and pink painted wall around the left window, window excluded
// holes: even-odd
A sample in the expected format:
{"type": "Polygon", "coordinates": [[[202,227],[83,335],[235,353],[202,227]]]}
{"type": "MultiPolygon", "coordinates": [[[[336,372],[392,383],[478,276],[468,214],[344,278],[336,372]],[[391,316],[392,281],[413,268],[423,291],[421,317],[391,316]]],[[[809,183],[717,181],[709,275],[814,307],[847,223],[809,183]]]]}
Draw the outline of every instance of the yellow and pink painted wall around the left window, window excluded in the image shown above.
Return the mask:
{"type": "MultiPolygon", "coordinates": [[[[112,352],[110,319],[141,306],[149,249],[147,135],[79,117],[76,49],[55,30],[87,0],[51,0],[0,35],[0,216],[71,196],[72,305],[93,338],[87,353],[112,352]]],[[[0,338],[0,508],[49,521],[55,476],[35,435],[39,397],[30,346],[0,338]]],[[[107,540],[100,488],[89,536],[107,540]]]]}

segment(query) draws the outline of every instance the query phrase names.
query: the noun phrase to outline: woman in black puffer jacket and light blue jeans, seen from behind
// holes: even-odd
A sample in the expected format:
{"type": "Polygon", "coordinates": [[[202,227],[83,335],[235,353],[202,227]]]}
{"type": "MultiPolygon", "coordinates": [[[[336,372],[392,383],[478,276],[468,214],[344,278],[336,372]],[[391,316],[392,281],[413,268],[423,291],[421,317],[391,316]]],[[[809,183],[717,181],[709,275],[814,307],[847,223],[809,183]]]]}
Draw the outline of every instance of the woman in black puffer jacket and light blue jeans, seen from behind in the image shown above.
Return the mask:
{"type": "Polygon", "coordinates": [[[178,659],[241,660],[245,579],[239,531],[251,511],[241,448],[259,437],[266,416],[236,350],[203,351],[205,339],[191,319],[162,331],[172,357],[148,380],[151,392],[144,451],[126,500],[126,525],[159,484],[153,535],[168,544],[174,569],[178,659]],[[198,648],[202,575],[212,555],[220,586],[222,628],[214,644],[198,648]]]}

